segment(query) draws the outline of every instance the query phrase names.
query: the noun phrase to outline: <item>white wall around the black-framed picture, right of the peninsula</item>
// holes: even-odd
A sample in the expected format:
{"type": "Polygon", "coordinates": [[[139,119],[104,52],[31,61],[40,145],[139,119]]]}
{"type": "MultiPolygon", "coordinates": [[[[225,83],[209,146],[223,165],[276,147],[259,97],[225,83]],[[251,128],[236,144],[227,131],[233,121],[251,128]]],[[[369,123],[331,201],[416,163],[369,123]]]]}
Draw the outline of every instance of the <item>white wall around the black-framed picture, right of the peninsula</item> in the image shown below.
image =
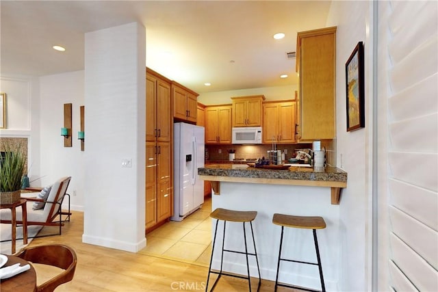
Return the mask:
{"type": "Polygon", "coordinates": [[[333,1],[327,26],[337,26],[336,33],[336,128],[337,167],[348,172],[348,185],[342,190],[339,204],[339,233],[341,254],[339,291],[367,291],[370,289],[370,235],[368,216],[371,191],[370,131],[372,103],[370,86],[372,75],[365,70],[365,129],[346,131],[345,63],[359,41],[364,42],[365,67],[369,65],[372,43],[369,1],[333,1]]]}

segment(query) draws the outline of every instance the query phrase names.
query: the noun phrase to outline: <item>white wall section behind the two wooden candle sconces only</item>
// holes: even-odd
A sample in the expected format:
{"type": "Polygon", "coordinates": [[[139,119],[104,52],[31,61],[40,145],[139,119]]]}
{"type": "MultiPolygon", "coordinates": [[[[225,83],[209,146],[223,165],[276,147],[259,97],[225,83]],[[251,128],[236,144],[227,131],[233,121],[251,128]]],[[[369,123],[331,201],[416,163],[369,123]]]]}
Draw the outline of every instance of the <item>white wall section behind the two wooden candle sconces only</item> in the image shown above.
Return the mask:
{"type": "MultiPolygon", "coordinates": [[[[40,77],[40,181],[49,185],[62,176],[71,176],[68,185],[71,208],[83,211],[84,152],[77,131],[80,129],[79,107],[83,101],[83,71],[40,77]],[[64,147],[64,103],[72,103],[72,147],[64,147]]],[[[87,144],[87,143],[86,143],[87,144]]],[[[65,203],[65,202],[64,202],[65,203]]]]}

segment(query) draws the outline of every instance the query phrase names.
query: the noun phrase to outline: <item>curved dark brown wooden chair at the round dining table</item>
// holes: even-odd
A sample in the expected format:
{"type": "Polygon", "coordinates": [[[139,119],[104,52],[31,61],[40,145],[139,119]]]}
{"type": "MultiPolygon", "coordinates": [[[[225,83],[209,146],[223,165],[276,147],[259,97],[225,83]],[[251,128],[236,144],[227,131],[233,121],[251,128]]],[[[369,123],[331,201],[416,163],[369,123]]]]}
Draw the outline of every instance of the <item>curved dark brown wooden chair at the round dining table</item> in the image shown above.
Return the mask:
{"type": "MultiPolygon", "coordinates": [[[[25,248],[15,254],[19,258],[36,264],[51,265],[64,269],[60,274],[37,287],[38,292],[51,292],[60,284],[73,280],[77,264],[77,256],[73,248],[62,244],[37,245],[25,248]]],[[[37,271],[38,274],[38,271],[37,271]]]]}

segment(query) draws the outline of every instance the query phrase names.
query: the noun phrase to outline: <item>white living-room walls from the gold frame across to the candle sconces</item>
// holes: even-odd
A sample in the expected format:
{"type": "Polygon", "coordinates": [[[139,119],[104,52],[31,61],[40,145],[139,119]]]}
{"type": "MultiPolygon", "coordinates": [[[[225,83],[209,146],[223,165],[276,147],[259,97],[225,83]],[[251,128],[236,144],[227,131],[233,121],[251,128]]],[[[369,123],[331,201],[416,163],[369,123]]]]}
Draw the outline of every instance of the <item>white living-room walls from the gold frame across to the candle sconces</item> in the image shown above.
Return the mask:
{"type": "Polygon", "coordinates": [[[28,138],[31,186],[50,185],[62,176],[72,176],[68,186],[71,208],[82,211],[83,152],[77,131],[79,105],[83,105],[83,71],[46,77],[4,74],[1,92],[8,95],[8,129],[0,134],[28,138]],[[64,147],[61,136],[64,103],[73,103],[73,147],[64,147]]]}

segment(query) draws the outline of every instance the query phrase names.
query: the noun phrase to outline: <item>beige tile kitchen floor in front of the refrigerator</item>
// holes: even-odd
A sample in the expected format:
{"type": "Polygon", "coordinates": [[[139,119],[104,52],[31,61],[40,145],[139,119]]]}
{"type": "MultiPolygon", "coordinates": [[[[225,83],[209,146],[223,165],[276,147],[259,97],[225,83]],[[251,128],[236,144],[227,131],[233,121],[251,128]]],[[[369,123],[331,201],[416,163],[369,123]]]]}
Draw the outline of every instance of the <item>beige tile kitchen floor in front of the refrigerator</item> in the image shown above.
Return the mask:
{"type": "Polygon", "coordinates": [[[141,254],[179,259],[208,267],[211,256],[211,198],[181,222],[170,221],[146,235],[141,254]]]}

